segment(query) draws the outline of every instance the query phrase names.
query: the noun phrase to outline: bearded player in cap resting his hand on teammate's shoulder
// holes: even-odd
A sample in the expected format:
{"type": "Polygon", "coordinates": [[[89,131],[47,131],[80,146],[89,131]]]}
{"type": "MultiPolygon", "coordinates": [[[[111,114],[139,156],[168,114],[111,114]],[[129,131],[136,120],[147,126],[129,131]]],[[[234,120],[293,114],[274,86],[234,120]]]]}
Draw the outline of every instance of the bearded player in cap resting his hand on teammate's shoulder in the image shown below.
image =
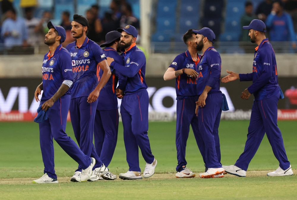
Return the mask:
{"type": "Polygon", "coordinates": [[[149,94],[145,81],[146,57],[136,47],[138,32],[132,25],[118,28],[121,33],[121,48],[124,51],[124,65],[118,64],[111,57],[108,65],[127,76],[127,85],[121,102],[121,117],[124,127],[124,142],[129,171],[119,174],[121,179],[142,179],[139,167],[138,146],[146,161],[143,177],[151,177],[155,172],[157,160],[151,153],[148,137],[149,129],[149,94]]]}

